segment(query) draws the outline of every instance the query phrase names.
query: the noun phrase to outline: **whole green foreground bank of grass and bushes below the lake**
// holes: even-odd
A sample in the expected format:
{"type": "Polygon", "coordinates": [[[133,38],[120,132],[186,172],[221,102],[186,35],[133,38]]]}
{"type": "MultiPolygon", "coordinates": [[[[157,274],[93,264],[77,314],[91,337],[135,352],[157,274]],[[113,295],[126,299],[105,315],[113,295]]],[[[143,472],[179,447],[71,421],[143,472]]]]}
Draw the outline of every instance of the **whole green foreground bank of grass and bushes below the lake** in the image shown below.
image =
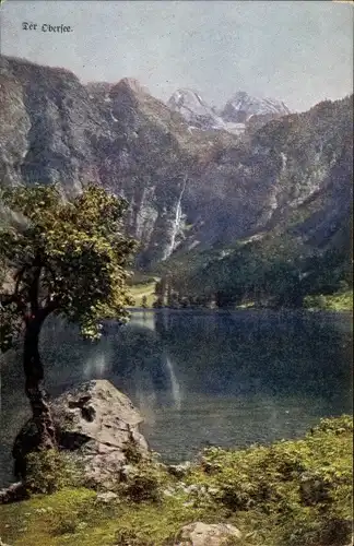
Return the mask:
{"type": "MultiPolygon", "coordinates": [[[[351,538],[352,431],[343,416],[322,420],[297,441],[211,448],[182,478],[157,462],[138,463],[108,503],[50,476],[56,492],[1,507],[2,539],[14,546],[162,546],[174,544],[181,525],[201,520],[235,524],[244,546],[343,546],[351,538]]],[[[42,476],[40,464],[35,470],[42,476]]]]}

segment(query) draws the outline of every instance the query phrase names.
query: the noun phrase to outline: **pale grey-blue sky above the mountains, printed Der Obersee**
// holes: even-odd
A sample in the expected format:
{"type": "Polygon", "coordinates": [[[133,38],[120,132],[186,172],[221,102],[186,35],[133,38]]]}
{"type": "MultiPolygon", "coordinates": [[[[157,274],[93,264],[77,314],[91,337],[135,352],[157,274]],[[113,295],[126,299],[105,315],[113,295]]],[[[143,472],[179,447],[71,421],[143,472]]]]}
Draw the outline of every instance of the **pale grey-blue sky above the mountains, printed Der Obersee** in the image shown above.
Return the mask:
{"type": "Polygon", "coordinates": [[[306,110],[353,91],[353,15],[316,0],[5,0],[0,46],[84,83],[135,78],[163,100],[188,87],[220,107],[246,91],[306,110]]]}

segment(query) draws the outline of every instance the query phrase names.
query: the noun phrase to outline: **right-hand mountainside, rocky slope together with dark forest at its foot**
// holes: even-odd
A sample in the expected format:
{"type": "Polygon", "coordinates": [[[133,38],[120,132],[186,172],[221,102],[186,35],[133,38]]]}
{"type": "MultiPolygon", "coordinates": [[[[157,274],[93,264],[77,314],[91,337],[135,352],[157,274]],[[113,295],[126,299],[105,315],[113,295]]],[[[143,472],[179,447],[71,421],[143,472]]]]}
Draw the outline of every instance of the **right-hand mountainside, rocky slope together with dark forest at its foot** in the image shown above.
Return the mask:
{"type": "Polygon", "coordinates": [[[172,257],[174,289],[206,300],[223,294],[225,305],[245,298],[297,306],[307,294],[350,286],[352,117],[353,97],[323,102],[225,151],[222,237],[199,254],[187,246],[172,257]]]}

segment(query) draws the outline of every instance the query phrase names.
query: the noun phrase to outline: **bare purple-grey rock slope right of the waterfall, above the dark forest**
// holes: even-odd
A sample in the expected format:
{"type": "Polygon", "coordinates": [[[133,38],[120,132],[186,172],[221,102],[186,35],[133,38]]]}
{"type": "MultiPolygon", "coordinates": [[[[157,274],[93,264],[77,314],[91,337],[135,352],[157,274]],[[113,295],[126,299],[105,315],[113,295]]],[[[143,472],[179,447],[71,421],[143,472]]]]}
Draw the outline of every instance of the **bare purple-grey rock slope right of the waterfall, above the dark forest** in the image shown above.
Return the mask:
{"type": "Polygon", "coordinates": [[[204,222],[198,234],[201,248],[203,242],[227,244],[286,222],[299,229],[302,221],[303,238],[316,232],[320,244],[341,224],[349,225],[352,112],[352,98],[321,103],[308,112],[269,122],[201,165],[185,207],[188,211],[198,194],[204,222]]]}

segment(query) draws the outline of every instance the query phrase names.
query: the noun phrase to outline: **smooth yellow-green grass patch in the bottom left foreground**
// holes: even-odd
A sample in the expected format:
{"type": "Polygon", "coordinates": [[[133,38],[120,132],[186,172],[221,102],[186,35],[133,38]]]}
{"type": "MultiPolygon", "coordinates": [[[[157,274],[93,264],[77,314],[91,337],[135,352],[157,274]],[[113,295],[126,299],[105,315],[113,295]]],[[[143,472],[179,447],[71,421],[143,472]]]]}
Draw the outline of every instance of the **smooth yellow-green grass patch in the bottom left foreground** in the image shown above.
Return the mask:
{"type": "Polygon", "coordinates": [[[163,503],[105,506],[84,488],[64,488],[0,510],[2,538],[13,546],[110,546],[121,544],[122,537],[134,541],[133,545],[157,546],[204,512],[172,497],[163,503]]]}

